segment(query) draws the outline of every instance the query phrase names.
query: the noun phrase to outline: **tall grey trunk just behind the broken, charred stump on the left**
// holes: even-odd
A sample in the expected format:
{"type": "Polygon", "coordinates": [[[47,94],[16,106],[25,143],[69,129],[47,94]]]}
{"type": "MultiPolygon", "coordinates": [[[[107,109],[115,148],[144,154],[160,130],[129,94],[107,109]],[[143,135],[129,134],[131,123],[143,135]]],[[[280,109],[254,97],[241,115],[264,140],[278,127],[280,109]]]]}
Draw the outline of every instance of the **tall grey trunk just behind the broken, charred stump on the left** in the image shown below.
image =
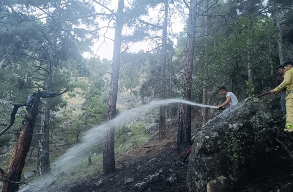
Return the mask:
{"type": "MultiPolygon", "coordinates": [[[[59,2],[60,3],[60,2],[59,2]]],[[[61,13],[58,12],[56,16],[56,22],[59,22],[61,13]]],[[[57,38],[60,34],[60,25],[53,26],[51,46],[48,49],[48,61],[45,71],[45,92],[52,91],[52,79],[53,79],[53,67],[54,67],[54,56],[57,45],[57,38]]],[[[50,121],[50,98],[42,99],[42,113],[41,113],[41,127],[40,127],[40,142],[38,152],[38,172],[41,177],[45,174],[51,174],[50,158],[49,158],[49,121],[50,121]]]]}

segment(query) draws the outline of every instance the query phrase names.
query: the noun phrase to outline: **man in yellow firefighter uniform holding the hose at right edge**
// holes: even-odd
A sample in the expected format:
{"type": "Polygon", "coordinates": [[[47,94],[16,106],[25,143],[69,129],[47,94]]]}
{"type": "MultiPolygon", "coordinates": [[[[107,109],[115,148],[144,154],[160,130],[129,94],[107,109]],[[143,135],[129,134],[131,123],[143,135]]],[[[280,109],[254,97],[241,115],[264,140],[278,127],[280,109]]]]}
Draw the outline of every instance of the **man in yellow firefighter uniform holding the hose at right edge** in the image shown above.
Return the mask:
{"type": "Polygon", "coordinates": [[[283,82],[273,90],[270,90],[271,94],[278,92],[279,90],[286,90],[286,125],[285,132],[293,132],[293,62],[287,61],[283,64],[285,70],[283,82]]]}

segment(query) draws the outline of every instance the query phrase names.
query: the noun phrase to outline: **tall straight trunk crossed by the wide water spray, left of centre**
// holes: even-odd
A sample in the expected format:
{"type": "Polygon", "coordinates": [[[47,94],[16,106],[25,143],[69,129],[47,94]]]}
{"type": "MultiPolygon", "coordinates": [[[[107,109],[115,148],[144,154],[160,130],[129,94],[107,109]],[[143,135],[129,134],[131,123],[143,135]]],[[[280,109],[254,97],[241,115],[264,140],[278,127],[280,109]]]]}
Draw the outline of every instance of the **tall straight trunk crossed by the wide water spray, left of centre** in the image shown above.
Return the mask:
{"type": "MultiPolygon", "coordinates": [[[[109,90],[109,101],[107,110],[107,121],[114,118],[116,115],[116,102],[118,93],[118,80],[119,80],[119,67],[120,67],[120,51],[121,51],[121,33],[123,26],[123,7],[124,0],[119,0],[116,27],[115,27],[115,39],[113,48],[113,64],[109,90]]],[[[109,127],[106,130],[104,138],[103,148],[103,169],[104,175],[108,175],[115,171],[115,152],[114,152],[114,129],[115,127],[109,127]]]]}

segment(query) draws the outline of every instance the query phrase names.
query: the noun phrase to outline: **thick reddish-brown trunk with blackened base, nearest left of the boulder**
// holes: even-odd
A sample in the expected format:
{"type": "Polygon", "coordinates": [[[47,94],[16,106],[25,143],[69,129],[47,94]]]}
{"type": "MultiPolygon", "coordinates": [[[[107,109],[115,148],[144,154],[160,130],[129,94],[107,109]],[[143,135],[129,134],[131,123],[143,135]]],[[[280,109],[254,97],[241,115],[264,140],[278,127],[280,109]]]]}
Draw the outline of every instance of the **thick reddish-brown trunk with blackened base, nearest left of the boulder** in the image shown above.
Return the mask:
{"type": "MultiPolygon", "coordinates": [[[[184,56],[183,82],[181,99],[190,101],[191,80],[193,72],[193,51],[196,32],[196,5],[197,0],[190,0],[188,13],[187,42],[184,56]]],[[[179,109],[179,122],[177,132],[177,151],[183,150],[192,144],[191,142],[191,108],[190,105],[181,103],[179,109]]]]}

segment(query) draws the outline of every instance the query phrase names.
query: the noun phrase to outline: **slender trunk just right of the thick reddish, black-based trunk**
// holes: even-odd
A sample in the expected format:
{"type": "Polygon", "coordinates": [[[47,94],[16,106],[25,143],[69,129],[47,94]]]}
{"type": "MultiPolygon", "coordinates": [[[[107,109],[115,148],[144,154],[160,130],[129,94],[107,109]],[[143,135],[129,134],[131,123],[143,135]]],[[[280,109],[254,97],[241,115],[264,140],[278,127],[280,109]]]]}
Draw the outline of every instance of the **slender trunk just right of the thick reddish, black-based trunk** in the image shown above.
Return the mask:
{"type": "MultiPolygon", "coordinates": [[[[206,1],[206,9],[209,8],[209,1],[206,1]]],[[[208,14],[208,12],[207,12],[208,14]]],[[[208,34],[208,17],[204,18],[205,21],[205,30],[204,30],[204,35],[208,34]]],[[[204,42],[204,58],[207,58],[207,36],[205,37],[205,42],[204,42]]],[[[207,60],[204,60],[204,88],[202,90],[202,103],[204,105],[207,105],[207,80],[205,78],[207,78],[207,60]]],[[[202,109],[202,124],[204,125],[205,123],[207,123],[207,112],[208,112],[208,108],[207,107],[203,107],[202,109]]]]}

